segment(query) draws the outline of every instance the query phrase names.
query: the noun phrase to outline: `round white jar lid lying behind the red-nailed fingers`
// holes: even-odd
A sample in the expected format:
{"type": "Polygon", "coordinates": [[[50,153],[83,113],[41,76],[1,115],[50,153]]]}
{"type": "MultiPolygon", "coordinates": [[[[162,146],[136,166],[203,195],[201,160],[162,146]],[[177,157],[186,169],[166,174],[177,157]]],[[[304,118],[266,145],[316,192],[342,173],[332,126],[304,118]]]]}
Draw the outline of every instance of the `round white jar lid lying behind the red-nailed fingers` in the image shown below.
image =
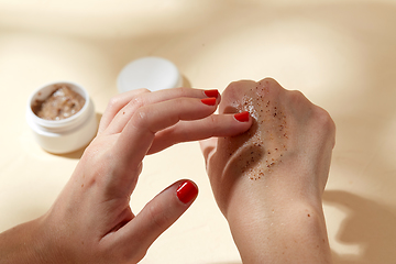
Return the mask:
{"type": "Polygon", "coordinates": [[[117,79],[120,92],[147,88],[151,91],[182,86],[177,67],[161,57],[142,57],[128,64],[117,79]]]}

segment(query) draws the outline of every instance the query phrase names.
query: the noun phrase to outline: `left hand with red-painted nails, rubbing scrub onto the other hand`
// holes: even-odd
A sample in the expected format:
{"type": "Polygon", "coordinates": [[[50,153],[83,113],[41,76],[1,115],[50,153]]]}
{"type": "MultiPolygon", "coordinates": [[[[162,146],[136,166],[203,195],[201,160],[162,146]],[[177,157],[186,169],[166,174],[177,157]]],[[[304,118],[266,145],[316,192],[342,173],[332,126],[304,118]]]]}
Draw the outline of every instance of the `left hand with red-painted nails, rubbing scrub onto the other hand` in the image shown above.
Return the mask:
{"type": "MultiPolygon", "coordinates": [[[[230,136],[252,124],[213,116],[217,90],[138,90],[113,98],[97,138],[43,217],[0,235],[0,258],[10,263],[136,263],[198,194],[180,180],[135,216],[130,197],[145,155],[175,143],[230,136]],[[23,258],[25,257],[25,258],[23,258]]],[[[3,262],[2,262],[3,263],[3,262]]]]}

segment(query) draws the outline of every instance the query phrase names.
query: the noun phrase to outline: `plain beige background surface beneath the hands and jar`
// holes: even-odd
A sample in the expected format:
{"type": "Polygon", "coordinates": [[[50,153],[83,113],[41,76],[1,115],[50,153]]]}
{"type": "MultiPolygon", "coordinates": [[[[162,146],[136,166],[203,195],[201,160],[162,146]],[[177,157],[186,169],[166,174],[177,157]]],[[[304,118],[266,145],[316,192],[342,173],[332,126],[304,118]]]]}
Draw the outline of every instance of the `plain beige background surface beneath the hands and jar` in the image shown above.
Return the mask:
{"type": "MultiPolygon", "coordinates": [[[[76,81],[100,116],[122,67],[155,55],[186,86],[271,76],[327,109],[338,128],[324,194],[334,262],[396,263],[395,32],[391,0],[0,0],[0,231],[44,213],[81,154],[36,145],[30,94],[76,81]]],[[[186,177],[199,198],[142,263],[240,263],[197,143],[145,160],[133,210],[186,177]]]]}

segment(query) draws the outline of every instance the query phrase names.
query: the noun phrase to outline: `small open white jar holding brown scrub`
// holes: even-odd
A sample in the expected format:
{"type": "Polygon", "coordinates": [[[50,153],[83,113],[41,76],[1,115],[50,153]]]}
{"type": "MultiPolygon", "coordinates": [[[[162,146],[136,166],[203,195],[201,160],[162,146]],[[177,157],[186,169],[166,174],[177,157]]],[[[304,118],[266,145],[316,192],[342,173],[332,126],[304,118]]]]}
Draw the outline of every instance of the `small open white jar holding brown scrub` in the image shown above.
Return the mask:
{"type": "MultiPolygon", "coordinates": [[[[56,106],[53,107],[56,108],[56,106]]],[[[61,112],[61,109],[57,111],[61,112]]],[[[70,153],[88,145],[98,128],[95,107],[87,90],[69,81],[52,82],[33,92],[28,102],[26,120],[38,145],[54,154],[70,153]],[[82,97],[85,100],[84,105],[81,103],[82,107],[63,119],[40,118],[37,105],[48,100],[59,87],[67,87],[72,94],[82,97]]]]}

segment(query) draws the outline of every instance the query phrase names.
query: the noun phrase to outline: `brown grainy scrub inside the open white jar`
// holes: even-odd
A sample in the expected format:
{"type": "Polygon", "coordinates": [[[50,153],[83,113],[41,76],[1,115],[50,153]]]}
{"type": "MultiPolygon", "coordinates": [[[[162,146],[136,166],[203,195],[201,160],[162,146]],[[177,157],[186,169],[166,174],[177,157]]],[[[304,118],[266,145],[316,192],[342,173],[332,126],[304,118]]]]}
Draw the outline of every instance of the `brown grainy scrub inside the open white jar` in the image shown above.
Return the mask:
{"type": "Polygon", "coordinates": [[[33,112],[42,119],[63,120],[76,114],[86,100],[66,85],[59,85],[45,100],[32,105],[33,112]]]}

